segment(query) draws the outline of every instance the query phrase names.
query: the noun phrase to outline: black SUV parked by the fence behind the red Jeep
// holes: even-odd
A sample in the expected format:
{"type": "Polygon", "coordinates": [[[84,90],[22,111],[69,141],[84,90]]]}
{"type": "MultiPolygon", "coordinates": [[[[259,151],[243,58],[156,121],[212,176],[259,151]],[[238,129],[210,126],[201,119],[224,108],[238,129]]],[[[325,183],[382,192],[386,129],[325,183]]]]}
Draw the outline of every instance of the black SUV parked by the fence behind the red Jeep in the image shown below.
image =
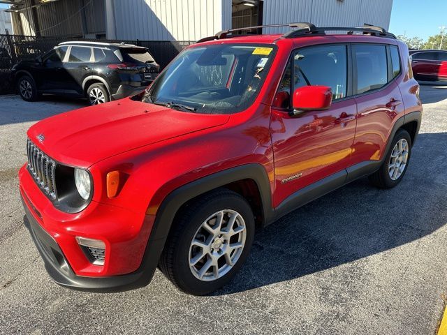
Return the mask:
{"type": "Polygon", "coordinates": [[[13,66],[25,101],[45,94],[87,97],[91,105],[136,94],[160,72],[145,47],[98,42],[64,42],[33,61],[13,66]]]}

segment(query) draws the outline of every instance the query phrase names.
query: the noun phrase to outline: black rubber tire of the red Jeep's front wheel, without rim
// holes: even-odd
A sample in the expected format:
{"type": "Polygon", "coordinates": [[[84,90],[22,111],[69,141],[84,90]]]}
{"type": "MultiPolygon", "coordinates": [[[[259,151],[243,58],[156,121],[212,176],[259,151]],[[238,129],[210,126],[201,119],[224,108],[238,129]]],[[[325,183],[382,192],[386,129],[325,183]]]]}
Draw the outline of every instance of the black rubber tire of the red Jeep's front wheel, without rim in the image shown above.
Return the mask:
{"type": "MultiPolygon", "coordinates": [[[[242,267],[249,255],[251,244],[253,243],[254,228],[253,212],[251,211],[251,207],[247,200],[242,196],[226,189],[219,189],[207,193],[189,204],[177,214],[163,249],[159,261],[159,268],[180,290],[192,295],[206,295],[228,283],[240,267],[242,267]],[[236,211],[237,214],[242,216],[246,231],[245,244],[238,260],[236,260],[233,267],[230,267],[230,270],[226,272],[226,274],[223,274],[220,278],[216,278],[212,281],[203,281],[197,278],[193,274],[193,269],[190,269],[189,267],[191,242],[193,241],[193,238],[198,236],[199,229],[201,229],[200,227],[202,226],[202,223],[204,223],[207,218],[218,211],[225,209],[236,211]]],[[[210,245],[214,246],[214,244],[210,245]]],[[[222,244],[222,246],[225,245],[226,244],[222,244]]],[[[203,253],[205,253],[205,250],[203,250],[203,253]]],[[[210,254],[205,254],[204,257],[207,260],[210,260],[210,254]]],[[[220,256],[220,258],[225,260],[224,256],[220,256]]],[[[221,262],[220,258],[219,262],[221,262]]],[[[222,265],[222,267],[226,266],[226,264],[225,260],[225,264],[222,265]]]]}

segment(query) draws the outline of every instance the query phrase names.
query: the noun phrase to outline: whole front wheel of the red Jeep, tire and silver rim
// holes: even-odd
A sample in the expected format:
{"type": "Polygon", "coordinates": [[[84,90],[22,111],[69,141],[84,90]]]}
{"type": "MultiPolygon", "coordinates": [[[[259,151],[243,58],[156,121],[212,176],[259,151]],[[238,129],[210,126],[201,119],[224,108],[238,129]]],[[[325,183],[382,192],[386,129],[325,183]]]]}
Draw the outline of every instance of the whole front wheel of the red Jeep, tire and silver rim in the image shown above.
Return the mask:
{"type": "Polygon", "coordinates": [[[184,292],[205,295],[225,285],[242,267],[254,239],[247,200],[214,191],[179,212],[160,269],[184,292]]]}

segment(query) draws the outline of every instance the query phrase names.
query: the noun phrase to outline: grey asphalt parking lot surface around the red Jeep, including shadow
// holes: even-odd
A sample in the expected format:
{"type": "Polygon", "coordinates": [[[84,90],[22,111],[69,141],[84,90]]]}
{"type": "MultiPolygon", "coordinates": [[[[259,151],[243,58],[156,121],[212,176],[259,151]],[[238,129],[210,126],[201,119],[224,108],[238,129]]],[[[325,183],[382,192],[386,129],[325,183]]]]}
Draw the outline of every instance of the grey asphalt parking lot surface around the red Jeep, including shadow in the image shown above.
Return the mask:
{"type": "Polygon", "coordinates": [[[47,276],[24,228],[26,131],[85,102],[0,96],[0,334],[434,334],[447,294],[447,87],[421,87],[423,124],[402,183],[359,179],[256,234],[219,292],[94,294],[47,276]]]}

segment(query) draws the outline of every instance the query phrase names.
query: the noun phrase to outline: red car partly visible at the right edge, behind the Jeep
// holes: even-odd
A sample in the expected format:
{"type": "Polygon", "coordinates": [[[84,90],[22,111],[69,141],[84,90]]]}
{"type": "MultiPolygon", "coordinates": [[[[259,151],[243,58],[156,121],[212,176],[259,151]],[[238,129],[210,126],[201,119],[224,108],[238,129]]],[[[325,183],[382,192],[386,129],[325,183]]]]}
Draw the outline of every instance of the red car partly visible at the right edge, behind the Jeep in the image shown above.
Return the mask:
{"type": "Polygon", "coordinates": [[[409,53],[416,80],[447,80],[446,50],[411,50],[409,53]]]}

